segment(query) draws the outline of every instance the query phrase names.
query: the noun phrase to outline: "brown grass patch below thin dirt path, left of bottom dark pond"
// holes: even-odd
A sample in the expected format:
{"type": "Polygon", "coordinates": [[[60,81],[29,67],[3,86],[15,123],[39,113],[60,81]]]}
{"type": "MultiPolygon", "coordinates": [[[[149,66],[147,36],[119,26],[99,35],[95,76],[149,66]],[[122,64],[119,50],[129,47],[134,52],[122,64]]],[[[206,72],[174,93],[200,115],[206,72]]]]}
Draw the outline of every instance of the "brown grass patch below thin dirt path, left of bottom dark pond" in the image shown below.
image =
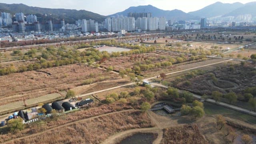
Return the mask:
{"type": "Polygon", "coordinates": [[[61,129],[40,134],[32,138],[15,141],[15,144],[99,144],[115,132],[121,132],[132,128],[147,128],[153,124],[146,113],[122,112],[90,120],[79,122],[61,129]]]}

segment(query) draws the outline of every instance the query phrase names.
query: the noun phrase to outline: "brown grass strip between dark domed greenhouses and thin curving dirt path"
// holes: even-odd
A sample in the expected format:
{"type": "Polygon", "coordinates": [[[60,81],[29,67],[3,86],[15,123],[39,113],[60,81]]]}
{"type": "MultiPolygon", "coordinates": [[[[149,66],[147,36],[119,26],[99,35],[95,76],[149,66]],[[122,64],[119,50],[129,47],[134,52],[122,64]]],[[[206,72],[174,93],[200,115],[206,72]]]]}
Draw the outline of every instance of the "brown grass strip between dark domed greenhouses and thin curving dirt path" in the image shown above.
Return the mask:
{"type": "Polygon", "coordinates": [[[120,103],[113,103],[109,105],[103,104],[101,106],[92,107],[87,110],[81,109],[77,112],[63,114],[62,116],[58,117],[57,120],[46,120],[40,123],[34,122],[30,126],[27,126],[24,130],[16,134],[11,134],[6,131],[1,131],[2,129],[0,129],[0,133],[3,133],[2,135],[0,135],[0,143],[13,138],[20,138],[20,137],[28,136],[31,134],[36,134],[38,132],[42,132],[50,128],[61,126],[63,124],[68,124],[70,122],[75,122],[77,120],[82,120],[82,119],[90,118],[93,116],[98,116],[101,114],[118,112],[121,110],[128,110],[128,109],[133,109],[133,108],[131,106],[128,106],[127,104],[120,104],[120,103]]]}

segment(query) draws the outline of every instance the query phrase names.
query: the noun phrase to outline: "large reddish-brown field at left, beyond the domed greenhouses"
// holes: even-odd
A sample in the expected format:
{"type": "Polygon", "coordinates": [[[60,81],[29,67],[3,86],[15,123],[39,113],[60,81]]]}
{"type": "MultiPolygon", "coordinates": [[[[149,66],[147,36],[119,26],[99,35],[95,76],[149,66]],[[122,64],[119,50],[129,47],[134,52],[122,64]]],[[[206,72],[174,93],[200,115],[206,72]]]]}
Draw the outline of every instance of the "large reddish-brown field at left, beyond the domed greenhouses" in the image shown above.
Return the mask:
{"type": "Polygon", "coordinates": [[[85,80],[100,82],[108,79],[115,80],[118,79],[118,76],[105,70],[90,68],[84,64],[41,69],[40,72],[9,74],[0,76],[2,84],[0,100],[1,104],[8,104],[74,88],[82,85],[85,80]]]}

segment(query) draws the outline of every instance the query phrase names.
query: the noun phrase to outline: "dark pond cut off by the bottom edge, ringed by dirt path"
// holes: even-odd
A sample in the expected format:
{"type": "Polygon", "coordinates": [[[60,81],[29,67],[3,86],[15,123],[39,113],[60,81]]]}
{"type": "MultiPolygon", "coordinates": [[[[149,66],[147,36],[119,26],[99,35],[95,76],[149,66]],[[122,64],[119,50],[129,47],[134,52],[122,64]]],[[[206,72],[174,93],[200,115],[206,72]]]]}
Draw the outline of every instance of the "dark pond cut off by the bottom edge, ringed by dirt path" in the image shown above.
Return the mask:
{"type": "Polygon", "coordinates": [[[137,133],[124,138],[118,144],[152,144],[157,138],[157,134],[153,133],[137,133]]]}

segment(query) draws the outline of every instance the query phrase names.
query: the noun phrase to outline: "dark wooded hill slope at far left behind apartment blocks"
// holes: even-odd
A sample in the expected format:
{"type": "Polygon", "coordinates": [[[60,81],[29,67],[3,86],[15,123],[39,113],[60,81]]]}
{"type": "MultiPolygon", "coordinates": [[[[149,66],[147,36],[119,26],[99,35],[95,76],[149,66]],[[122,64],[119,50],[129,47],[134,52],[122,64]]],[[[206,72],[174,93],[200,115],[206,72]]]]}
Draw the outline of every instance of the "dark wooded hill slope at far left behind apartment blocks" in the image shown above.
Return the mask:
{"type": "MultiPolygon", "coordinates": [[[[89,12],[86,10],[68,10],[68,9],[52,9],[52,8],[39,8],[33,6],[27,6],[25,4],[4,4],[0,3],[1,12],[12,12],[18,13],[23,12],[24,14],[37,14],[42,16],[48,14],[46,19],[65,19],[67,23],[74,23],[78,19],[92,19],[98,22],[102,22],[105,16],[89,12]],[[51,14],[51,15],[50,15],[51,14]]],[[[39,19],[39,21],[41,21],[39,19]]]]}

